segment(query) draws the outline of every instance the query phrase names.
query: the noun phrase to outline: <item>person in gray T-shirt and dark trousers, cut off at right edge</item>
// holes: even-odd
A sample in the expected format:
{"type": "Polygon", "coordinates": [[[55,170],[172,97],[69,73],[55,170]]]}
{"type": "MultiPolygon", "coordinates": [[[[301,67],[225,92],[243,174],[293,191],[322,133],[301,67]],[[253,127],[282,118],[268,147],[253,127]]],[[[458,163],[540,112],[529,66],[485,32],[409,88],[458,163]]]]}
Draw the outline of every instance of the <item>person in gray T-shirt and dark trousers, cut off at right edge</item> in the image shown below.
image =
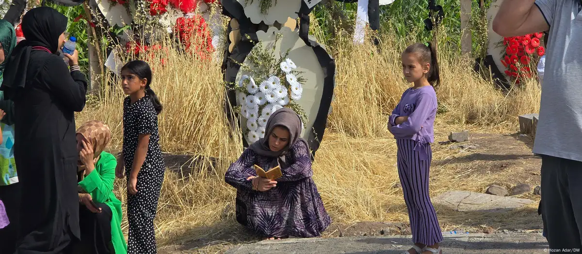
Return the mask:
{"type": "Polygon", "coordinates": [[[550,249],[582,248],[582,5],[580,0],[505,0],[493,21],[503,37],[547,31],[540,119],[542,219],[550,249]]]}

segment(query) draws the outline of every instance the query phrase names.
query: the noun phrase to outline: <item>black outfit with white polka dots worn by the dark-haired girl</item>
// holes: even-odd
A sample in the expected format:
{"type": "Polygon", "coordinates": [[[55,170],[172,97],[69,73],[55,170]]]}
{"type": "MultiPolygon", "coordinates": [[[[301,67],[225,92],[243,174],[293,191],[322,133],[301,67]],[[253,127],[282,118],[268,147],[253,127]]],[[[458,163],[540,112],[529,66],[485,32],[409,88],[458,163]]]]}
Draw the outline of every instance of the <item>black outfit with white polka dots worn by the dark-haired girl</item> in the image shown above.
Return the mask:
{"type": "Polygon", "coordinates": [[[157,253],[154,219],[158,206],[159,192],[164,182],[165,165],[159,148],[158,115],[148,96],[135,103],[129,97],[123,101],[123,159],[126,177],[132,169],[133,157],[140,134],[150,134],[147,155],[137,175],[137,194],[127,193],[127,222],[129,237],[127,253],[157,253]]]}

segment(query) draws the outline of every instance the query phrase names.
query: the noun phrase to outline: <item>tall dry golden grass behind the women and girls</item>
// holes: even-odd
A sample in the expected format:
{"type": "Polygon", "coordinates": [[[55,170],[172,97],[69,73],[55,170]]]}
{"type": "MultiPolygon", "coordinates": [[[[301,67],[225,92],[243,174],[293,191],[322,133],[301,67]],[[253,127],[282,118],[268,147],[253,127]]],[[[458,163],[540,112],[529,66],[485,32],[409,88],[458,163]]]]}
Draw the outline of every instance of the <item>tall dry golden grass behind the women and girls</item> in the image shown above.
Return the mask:
{"type": "MultiPolygon", "coordinates": [[[[396,146],[385,128],[388,113],[409,86],[400,67],[400,52],[406,44],[384,34],[379,50],[371,45],[353,46],[349,38],[328,47],[337,64],[336,99],[314,163],[314,180],[335,222],[407,222],[402,191],[392,188],[398,183],[396,146]]],[[[473,62],[462,59],[457,52],[442,49],[439,63],[442,84],[438,99],[447,111],[438,115],[439,128],[467,124],[515,128],[517,115],[538,111],[540,88],[535,81],[504,94],[478,77],[472,71],[473,62]]],[[[190,177],[166,172],[156,221],[159,244],[215,239],[217,234],[238,228],[233,219],[235,190],[224,183],[223,175],[242,152],[240,133],[230,130],[223,114],[225,90],[219,63],[170,50],[150,64],[154,68],[152,89],[165,107],[159,115],[162,149],[219,158],[216,165],[202,159],[195,165],[198,171],[190,177]],[[161,57],[165,64],[159,61],[161,57]]],[[[119,149],[122,101],[118,85],[113,85],[105,89],[97,103],[77,115],[77,123],[105,121],[113,132],[111,148],[119,149]]],[[[435,158],[444,158],[445,153],[435,151],[435,158]]],[[[481,185],[495,177],[456,179],[453,173],[434,169],[431,194],[452,188],[481,191],[481,185]]],[[[125,180],[116,184],[116,194],[125,204],[125,180]]],[[[462,224],[455,223],[458,216],[462,215],[442,220],[443,229],[462,224]]],[[[123,228],[127,228],[126,221],[123,228]]],[[[233,241],[236,239],[233,237],[233,241]]]]}

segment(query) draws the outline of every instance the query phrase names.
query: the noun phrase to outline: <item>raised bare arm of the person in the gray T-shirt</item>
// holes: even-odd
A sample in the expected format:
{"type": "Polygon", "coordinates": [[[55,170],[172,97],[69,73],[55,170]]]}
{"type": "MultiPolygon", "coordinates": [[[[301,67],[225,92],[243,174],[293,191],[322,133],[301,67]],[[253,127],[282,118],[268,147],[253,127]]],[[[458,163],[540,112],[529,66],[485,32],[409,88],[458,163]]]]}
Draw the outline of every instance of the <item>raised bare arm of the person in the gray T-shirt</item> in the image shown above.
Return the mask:
{"type": "MultiPolygon", "coordinates": [[[[549,0],[556,1],[556,0],[549,0]]],[[[505,0],[493,20],[493,31],[503,37],[521,36],[549,30],[548,21],[535,0],[505,0]]]]}

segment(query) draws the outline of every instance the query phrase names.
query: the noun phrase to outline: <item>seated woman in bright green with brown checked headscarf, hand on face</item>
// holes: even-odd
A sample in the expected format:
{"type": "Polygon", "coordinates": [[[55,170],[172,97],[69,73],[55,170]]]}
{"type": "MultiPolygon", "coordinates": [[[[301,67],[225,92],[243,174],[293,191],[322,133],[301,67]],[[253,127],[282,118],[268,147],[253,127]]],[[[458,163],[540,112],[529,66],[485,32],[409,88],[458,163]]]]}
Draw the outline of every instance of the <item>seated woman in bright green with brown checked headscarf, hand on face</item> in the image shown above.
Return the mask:
{"type": "Polygon", "coordinates": [[[104,151],[111,132],[103,122],[93,120],[81,125],[76,133],[81,241],[74,244],[73,253],[126,254],[121,202],[113,194],[117,161],[104,151]]]}

